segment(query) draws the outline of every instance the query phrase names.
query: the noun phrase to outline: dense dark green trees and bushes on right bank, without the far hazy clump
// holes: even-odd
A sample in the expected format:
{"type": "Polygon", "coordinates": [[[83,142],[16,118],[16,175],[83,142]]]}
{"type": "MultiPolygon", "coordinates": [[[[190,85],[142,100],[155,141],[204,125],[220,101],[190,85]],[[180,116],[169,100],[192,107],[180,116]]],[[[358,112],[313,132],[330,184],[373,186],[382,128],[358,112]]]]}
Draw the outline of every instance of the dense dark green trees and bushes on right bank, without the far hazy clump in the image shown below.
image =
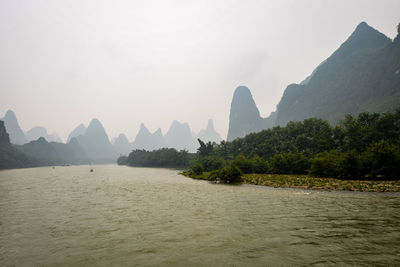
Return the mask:
{"type": "MultiPolygon", "coordinates": [[[[334,127],[321,119],[306,119],[290,122],[286,127],[249,134],[232,142],[206,144],[199,140],[199,143],[197,160],[184,173],[196,179],[212,181],[219,177],[221,182],[231,182],[221,177],[228,173],[226,168],[232,170],[234,167],[245,174],[243,177],[249,177],[246,174],[250,173],[275,175],[257,176],[264,178],[281,177],[281,182],[267,179],[274,186],[287,183],[285,180],[289,177],[277,174],[306,177],[306,180],[296,178],[288,184],[300,186],[304,182],[302,186],[311,184],[312,188],[312,183],[325,179],[315,177],[380,183],[383,179],[400,178],[400,109],[395,113],[347,115],[334,127]],[[311,176],[298,176],[305,174],[311,176]]],[[[259,184],[249,179],[244,181],[259,184]]],[[[325,180],[328,184],[331,181],[325,180]]],[[[353,187],[354,183],[351,183],[350,188],[353,187]]],[[[343,189],[344,185],[337,188],[343,189]]]]}

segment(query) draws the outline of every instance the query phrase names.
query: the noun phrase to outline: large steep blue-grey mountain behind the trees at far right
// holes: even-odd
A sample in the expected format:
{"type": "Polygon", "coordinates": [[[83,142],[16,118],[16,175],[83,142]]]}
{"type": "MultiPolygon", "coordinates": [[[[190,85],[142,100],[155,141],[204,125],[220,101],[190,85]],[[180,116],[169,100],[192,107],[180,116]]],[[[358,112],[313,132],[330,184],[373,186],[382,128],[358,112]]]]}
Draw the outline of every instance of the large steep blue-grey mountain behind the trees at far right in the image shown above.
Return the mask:
{"type": "Polygon", "coordinates": [[[396,40],[360,23],[306,80],[286,88],[275,124],[311,117],[337,123],[348,113],[400,107],[400,42],[396,40]]]}

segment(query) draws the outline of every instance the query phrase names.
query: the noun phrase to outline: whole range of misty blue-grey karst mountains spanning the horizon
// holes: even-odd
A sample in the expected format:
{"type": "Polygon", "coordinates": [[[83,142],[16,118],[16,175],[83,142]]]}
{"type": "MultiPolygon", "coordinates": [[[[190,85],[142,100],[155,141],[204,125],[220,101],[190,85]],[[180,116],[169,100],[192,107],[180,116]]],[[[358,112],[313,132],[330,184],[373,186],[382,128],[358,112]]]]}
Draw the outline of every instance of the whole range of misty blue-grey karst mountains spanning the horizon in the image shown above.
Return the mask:
{"type": "MultiPolygon", "coordinates": [[[[398,32],[392,41],[367,23],[360,23],[310,76],[285,89],[276,111],[267,118],[260,116],[250,90],[246,86],[237,87],[231,103],[227,141],[311,117],[335,124],[345,114],[394,111],[400,107],[400,27],[398,32]]],[[[151,133],[142,123],[133,142],[129,142],[124,134],[110,142],[101,122],[93,119],[87,128],[80,124],[73,129],[66,144],[59,143],[57,135],[48,134],[43,127],[34,127],[24,133],[10,110],[1,120],[9,141],[20,151],[32,156],[41,155],[54,162],[62,161],[63,155],[72,159],[77,154],[80,156],[74,159],[75,162],[88,159],[110,162],[132,149],[169,147],[195,152],[197,138],[205,142],[222,140],[212,120],[198,134],[191,132],[187,123],[178,121],[172,122],[165,135],[161,129],[151,133]],[[40,138],[35,140],[38,136],[40,138]],[[30,140],[35,141],[28,143],[30,140]]]]}

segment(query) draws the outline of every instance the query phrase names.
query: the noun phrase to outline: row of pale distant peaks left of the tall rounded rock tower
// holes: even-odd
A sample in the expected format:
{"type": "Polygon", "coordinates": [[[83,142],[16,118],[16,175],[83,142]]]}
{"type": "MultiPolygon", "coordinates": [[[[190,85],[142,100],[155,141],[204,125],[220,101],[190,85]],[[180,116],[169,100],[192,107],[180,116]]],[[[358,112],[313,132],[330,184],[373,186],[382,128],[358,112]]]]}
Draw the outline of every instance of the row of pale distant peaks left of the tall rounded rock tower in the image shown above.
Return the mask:
{"type": "Polygon", "coordinates": [[[7,111],[2,119],[10,142],[26,153],[44,161],[60,164],[61,162],[115,162],[119,155],[127,155],[133,149],[155,150],[164,147],[177,150],[186,149],[195,152],[198,146],[197,136],[208,142],[220,142],[222,139],[214,129],[212,120],[207,128],[198,135],[191,132],[188,123],[173,121],[168,132],[163,135],[161,129],[151,133],[142,123],[133,142],[129,142],[125,134],[120,134],[112,142],[103,125],[93,119],[86,128],[78,125],[71,131],[66,144],[56,134],[48,134],[44,127],[34,127],[24,133],[19,126],[15,113],[7,111]],[[63,157],[62,154],[65,154],[63,157]]]}

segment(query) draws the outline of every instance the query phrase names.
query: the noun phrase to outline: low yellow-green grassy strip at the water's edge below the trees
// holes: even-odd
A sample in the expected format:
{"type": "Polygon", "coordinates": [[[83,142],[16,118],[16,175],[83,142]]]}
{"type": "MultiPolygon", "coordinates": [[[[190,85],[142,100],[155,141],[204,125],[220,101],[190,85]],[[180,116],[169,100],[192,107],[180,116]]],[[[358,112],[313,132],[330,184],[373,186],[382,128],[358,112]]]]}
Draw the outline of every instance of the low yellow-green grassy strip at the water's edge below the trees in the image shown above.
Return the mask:
{"type": "MultiPolygon", "coordinates": [[[[186,177],[209,180],[209,173],[186,177]]],[[[320,178],[310,175],[288,174],[244,174],[243,183],[282,188],[301,188],[314,190],[338,190],[359,192],[400,192],[400,180],[344,180],[336,178],[320,178]]]]}

